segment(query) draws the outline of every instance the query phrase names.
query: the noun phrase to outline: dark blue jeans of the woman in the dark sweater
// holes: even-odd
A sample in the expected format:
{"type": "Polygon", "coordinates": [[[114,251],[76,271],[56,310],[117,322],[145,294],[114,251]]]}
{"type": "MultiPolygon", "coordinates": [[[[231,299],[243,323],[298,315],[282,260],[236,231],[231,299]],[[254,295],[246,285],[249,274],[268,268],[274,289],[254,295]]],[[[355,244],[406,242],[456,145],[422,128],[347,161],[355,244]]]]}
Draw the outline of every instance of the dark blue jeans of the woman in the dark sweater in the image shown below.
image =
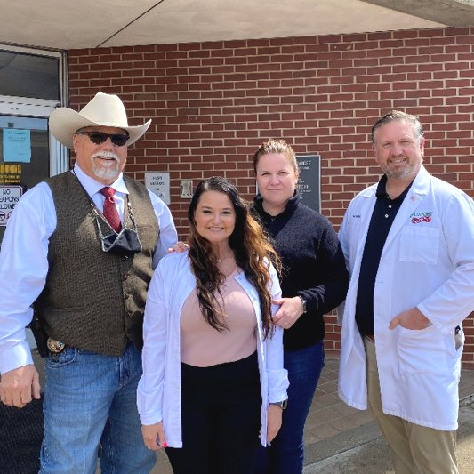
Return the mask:
{"type": "Polygon", "coordinates": [[[271,446],[261,448],[255,474],[301,474],[304,462],[304,424],[325,366],[323,342],[299,350],[285,350],[288,406],[271,446]]]}

